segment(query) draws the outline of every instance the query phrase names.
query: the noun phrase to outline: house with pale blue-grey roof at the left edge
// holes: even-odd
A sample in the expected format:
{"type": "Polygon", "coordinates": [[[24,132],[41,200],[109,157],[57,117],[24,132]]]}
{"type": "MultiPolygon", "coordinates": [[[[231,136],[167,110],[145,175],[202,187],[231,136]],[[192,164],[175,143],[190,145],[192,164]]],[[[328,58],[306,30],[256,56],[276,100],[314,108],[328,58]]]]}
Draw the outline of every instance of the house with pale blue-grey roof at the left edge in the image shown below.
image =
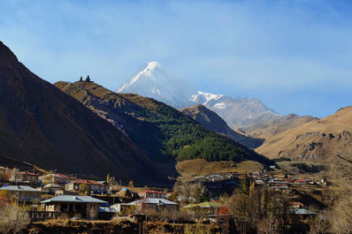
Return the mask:
{"type": "Polygon", "coordinates": [[[6,191],[10,197],[10,200],[15,198],[18,199],[19,203],[33,202],[34,200],[40,200],[41,192],[30,186],[23,185],[4,185],[0,188],[0,191],[6,191]]]}

